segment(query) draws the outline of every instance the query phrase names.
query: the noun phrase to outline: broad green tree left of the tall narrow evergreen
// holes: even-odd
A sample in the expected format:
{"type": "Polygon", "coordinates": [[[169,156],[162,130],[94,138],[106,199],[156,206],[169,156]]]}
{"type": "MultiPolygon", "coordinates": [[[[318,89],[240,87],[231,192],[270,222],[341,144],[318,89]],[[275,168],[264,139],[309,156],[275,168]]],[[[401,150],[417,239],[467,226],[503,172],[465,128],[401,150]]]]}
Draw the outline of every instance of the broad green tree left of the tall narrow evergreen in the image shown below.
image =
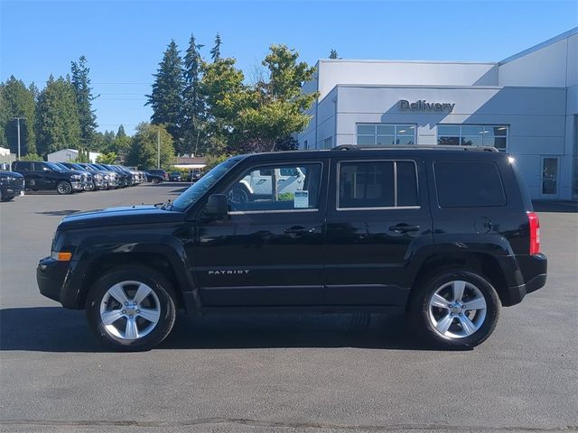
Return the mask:
{"type": "Polygon", "coordinates": [[[80,146],[80,121],[70,78],[48,78],[36,106],[36,147],[42,155],[80,146]]]}

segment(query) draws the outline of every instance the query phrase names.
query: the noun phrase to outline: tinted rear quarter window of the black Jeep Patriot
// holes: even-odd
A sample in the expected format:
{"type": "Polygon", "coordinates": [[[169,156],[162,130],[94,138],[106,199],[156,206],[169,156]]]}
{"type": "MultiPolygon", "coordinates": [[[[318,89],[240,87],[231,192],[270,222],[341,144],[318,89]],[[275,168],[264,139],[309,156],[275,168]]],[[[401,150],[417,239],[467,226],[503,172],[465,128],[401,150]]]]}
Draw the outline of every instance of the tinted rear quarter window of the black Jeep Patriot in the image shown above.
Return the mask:
{"type": "Polygon", "coordinates": [[[440,207],[506,205],[496,164],[487,161],[436,161],[433,164],[440,207]]]}

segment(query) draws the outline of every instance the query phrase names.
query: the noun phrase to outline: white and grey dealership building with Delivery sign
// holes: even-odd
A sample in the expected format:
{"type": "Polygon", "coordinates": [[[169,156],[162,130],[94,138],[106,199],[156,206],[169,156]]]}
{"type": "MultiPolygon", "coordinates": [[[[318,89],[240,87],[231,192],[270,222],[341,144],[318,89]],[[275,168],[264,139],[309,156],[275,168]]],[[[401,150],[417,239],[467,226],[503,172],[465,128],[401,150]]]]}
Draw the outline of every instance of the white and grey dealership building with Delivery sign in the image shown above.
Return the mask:
{"type": "Polygon", "coordinates": [[[319,60],[303,91],[302,149],[494,146],[532,198],[578,199],[578,28],[498,62],[319,60]]]}

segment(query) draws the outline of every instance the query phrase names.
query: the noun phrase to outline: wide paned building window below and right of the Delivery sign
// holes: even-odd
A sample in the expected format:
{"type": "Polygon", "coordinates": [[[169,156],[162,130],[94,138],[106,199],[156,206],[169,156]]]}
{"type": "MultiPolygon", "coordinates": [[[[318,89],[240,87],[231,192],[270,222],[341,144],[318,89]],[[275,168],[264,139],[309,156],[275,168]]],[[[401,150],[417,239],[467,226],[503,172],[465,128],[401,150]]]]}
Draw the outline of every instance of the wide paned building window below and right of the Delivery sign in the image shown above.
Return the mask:
{"type": "Polygon", "coordinates": [[[508,149],[506,124],[438,124],[437,143],[448,146],[491,146],[508,149]]]}

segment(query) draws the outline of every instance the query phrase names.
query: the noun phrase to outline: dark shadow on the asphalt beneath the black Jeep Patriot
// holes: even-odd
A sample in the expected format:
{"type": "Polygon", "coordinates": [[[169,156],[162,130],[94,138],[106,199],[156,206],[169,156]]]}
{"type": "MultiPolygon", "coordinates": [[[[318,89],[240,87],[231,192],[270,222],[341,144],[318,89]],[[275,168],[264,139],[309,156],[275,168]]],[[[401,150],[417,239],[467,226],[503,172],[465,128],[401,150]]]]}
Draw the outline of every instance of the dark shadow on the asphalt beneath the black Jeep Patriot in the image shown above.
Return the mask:
{"type": "MultiPolygon", "coordinates": [[[[180,315],[163,349],[359,347],[435,350],[403,315],[180,315]]],[[[0,351],[102,352],[83,311],[60,307],[0,310],[0,351]]]]}

